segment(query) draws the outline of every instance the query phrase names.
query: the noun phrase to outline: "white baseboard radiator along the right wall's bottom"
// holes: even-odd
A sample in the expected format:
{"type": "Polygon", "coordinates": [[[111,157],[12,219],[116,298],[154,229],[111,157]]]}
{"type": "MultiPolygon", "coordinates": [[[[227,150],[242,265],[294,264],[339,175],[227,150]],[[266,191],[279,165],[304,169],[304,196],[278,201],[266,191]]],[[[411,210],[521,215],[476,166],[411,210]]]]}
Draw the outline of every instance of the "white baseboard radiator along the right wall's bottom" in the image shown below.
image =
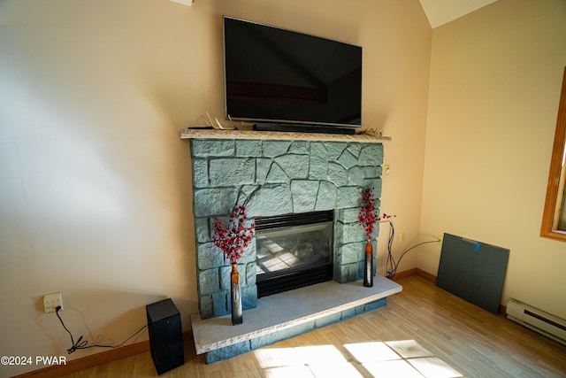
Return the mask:
{"type": "Polygon", "coordinates": [[[566,345],[566,320],[510,298],[507,317],[566,345]]]}

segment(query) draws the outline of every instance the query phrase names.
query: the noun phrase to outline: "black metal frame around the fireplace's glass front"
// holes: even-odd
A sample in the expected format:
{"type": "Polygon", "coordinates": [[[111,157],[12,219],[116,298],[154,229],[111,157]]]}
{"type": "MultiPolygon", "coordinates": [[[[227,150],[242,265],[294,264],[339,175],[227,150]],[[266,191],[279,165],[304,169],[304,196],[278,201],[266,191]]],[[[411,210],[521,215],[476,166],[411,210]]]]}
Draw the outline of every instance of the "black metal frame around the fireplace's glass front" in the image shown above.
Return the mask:
{"type": "MultiPolygon", "coordinates": [[[[256,217],[256,231],[306,226],[334,222],[334,211],[291,213],[269,217],[256,217]]],[[[332,240],[334,238],[332,232],[332,240]]],[[[333,253],[330,262],[298,269],[285,269],[256,277],[257,297],[267,297],[283,291],[299,289],[315,283],[333,280],[333,253]]]]}

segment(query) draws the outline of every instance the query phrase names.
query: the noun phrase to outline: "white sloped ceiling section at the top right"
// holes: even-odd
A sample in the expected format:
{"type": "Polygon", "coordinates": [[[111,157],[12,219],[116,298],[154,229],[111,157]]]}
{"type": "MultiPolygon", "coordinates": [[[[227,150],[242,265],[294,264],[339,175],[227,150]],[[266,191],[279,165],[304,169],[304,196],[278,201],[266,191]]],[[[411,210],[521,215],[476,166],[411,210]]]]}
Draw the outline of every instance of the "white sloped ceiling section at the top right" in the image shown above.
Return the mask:
{"type": "Polygon", "coordinates": [[[420,0],[431,27],[440,27],[497,0],[420,0]]]}

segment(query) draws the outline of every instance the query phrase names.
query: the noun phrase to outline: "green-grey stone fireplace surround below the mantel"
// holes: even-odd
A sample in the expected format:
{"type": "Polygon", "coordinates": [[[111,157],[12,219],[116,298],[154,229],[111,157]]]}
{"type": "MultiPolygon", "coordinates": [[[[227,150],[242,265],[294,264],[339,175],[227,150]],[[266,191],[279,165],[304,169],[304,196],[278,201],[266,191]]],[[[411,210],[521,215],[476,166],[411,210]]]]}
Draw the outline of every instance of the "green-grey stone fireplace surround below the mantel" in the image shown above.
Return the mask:
{"type": "MultiPolygon", "coordinates": [[[[333,211],[332,279],[343,283],[363,277],[367,239],[357,222],[357,204],[362,189],[374,188],[380,196],[382,143],[193,138],[191,156],[203,319],[231,311],[230,264],[212,243],[211,217],[227,219],[234,204],[245,205],[248,215],[258,218],[333,211]]],[[[256,248],[254,240],[238,266],[244,310],[257,304],[256,248]]]]}

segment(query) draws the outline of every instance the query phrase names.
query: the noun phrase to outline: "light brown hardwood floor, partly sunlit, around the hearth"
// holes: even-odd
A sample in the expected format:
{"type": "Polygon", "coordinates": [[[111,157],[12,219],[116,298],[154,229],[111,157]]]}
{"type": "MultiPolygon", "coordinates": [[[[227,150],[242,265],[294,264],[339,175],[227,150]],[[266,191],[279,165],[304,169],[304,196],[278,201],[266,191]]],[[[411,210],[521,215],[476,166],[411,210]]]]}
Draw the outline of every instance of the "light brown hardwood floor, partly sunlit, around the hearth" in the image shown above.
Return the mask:
{"type": "MultiPolygon", "coordinates": [[[[384,308],[211,365],[186,362],[161,377],[566,377],[566,346],[465,302],[421,277],[384,308]]],[[[155,377],[149,352],[65,375],[155,377]]]]}

